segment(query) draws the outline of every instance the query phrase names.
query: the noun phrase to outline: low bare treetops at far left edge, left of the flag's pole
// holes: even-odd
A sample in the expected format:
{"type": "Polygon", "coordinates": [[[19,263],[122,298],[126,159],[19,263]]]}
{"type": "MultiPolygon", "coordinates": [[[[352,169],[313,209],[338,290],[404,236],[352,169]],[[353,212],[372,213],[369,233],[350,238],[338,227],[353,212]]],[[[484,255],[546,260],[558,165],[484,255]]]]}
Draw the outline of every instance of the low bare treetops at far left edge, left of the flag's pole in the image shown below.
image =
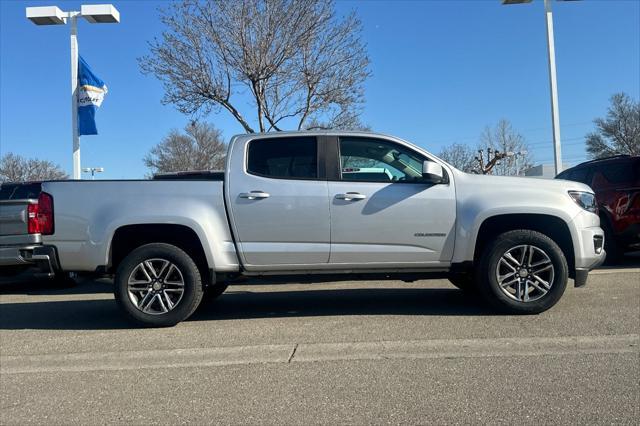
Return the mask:
{"type": "Polygon", "coordinates": [[[39,180],[69,179],[57,164],[51,161],[25,158],[8,153],[0,159],[1,182],[29,182],[39,180]]]}

